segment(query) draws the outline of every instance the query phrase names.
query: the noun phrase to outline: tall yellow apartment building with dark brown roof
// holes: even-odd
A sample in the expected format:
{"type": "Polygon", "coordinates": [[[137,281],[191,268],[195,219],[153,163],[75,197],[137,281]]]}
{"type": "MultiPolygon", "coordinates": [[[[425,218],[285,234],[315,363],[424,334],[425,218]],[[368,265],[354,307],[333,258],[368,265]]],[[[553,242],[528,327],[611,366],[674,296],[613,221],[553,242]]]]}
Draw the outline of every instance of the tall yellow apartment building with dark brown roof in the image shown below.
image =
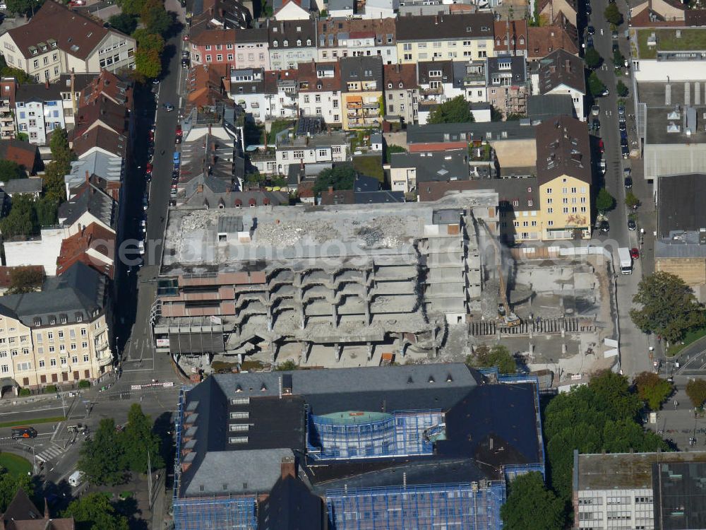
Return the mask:
{"type": "Polygon", "coordinates": [[[557,117],[537,129],[542,240],[591,237],[591,148],[585,123],[557,117]]]}

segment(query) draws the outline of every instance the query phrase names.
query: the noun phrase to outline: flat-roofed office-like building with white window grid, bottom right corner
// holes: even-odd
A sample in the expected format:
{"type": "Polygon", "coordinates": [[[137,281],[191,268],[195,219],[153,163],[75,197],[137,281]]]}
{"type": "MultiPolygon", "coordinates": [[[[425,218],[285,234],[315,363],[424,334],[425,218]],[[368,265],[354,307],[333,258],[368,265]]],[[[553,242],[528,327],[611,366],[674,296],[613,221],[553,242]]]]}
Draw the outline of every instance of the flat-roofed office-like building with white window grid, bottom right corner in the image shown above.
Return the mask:
{"type": "Polygon", "coordinates": [[[706,452],[578,454],[573,512],[578,530],[706,526],[700,509],[706,452]]]}

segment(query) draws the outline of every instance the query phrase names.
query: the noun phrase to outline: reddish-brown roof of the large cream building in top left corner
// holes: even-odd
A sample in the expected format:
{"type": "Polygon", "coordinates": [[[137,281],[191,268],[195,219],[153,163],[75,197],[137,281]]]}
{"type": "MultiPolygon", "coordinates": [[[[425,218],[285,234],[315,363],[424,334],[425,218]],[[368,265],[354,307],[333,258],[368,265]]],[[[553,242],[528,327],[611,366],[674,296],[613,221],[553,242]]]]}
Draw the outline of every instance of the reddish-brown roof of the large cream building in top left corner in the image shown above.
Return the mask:
{"type": "Polygon", "coordinates": [[[54,40],[57,48],[85,60],[108,33],[122,35],[55,1],[44,2],[29,23],[17,26],[8,33],[25,59],[32,57],[30,46],[38,47],[44,42],[51,49],[50,42],[54,40]]]}

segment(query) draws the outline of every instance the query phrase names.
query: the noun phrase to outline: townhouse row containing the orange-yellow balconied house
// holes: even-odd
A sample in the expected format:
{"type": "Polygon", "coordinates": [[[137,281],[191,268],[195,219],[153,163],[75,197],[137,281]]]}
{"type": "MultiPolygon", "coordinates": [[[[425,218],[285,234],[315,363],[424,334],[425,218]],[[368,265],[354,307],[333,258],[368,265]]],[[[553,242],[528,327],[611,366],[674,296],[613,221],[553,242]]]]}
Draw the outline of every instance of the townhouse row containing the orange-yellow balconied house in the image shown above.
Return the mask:
{"type": "MultiPolygon", "coordinates": [[[[198,68],[198,67],[197,67],[198,68]]],[[[530,71],[525,57],[504,55],[467,63],[450,60],[383,64],[380,57],[310,61],[297,70],[232,69],[229,95],[255,122],[323,118],[345,130],[379,126],[382,119],[426,124],[439,104],[462,96],[476,121],[489,121],[489,106],[527,114],[532,95],[569,94],[585,119],[585,81],[578,57],[558,50],[530,71]],[[486,105],[483,105],[486,104],[486,105]]]]}

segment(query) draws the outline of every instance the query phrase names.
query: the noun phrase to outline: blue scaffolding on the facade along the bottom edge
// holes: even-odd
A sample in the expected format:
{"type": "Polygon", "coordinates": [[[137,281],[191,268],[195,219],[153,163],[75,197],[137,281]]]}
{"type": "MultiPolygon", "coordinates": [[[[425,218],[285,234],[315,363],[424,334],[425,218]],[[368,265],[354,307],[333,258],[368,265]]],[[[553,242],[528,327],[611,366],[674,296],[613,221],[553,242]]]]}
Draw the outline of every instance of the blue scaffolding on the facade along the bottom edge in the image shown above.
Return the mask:
{"type": "Polygon", "coordinates": [[[328,490],[331,530],[500,530],[505,481],[328,490]]]}

